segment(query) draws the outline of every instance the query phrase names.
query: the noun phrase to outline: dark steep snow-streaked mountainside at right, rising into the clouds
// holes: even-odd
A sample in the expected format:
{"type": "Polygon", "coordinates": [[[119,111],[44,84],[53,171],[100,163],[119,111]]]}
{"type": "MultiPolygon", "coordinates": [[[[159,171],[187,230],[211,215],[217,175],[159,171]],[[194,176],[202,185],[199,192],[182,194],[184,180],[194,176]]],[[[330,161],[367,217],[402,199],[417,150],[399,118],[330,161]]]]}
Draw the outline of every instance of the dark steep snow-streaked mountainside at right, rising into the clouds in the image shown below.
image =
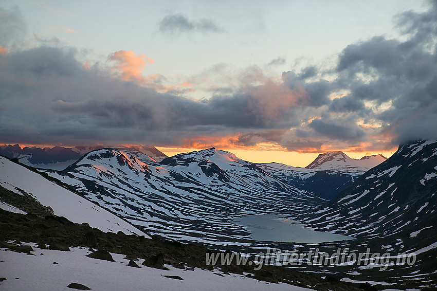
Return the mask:
{"type": "Polygon", "coordinates": [[[302,222],[355,237],[432,228],[437,225],[436,193],[437,141],[414,141],[399,146],[323,209],[304,214],[302,222]]]}

